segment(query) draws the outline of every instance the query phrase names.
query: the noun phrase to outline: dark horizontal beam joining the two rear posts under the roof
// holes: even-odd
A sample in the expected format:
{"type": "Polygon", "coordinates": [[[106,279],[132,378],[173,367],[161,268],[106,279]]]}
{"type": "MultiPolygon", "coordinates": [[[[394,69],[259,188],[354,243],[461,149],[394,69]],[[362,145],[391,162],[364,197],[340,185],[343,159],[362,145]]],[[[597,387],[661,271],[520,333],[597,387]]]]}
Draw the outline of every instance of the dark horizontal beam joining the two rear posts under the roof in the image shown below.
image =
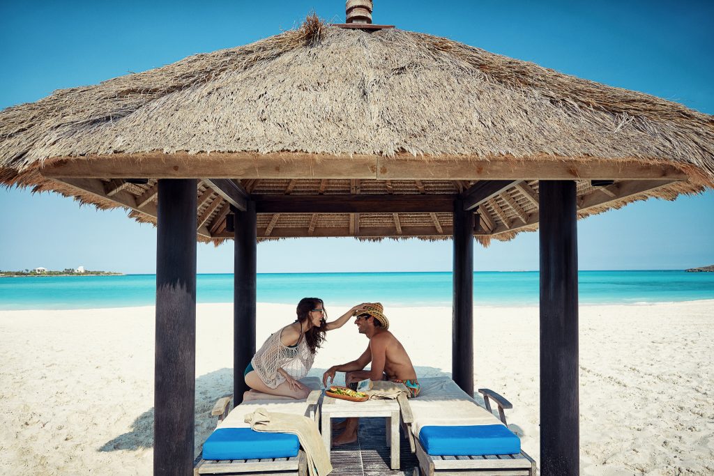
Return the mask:
{"type": "Polygon", "coordinates": [[[453,211],[451,195],[253,195],[258,213],[428,213],[453,211]]]}

